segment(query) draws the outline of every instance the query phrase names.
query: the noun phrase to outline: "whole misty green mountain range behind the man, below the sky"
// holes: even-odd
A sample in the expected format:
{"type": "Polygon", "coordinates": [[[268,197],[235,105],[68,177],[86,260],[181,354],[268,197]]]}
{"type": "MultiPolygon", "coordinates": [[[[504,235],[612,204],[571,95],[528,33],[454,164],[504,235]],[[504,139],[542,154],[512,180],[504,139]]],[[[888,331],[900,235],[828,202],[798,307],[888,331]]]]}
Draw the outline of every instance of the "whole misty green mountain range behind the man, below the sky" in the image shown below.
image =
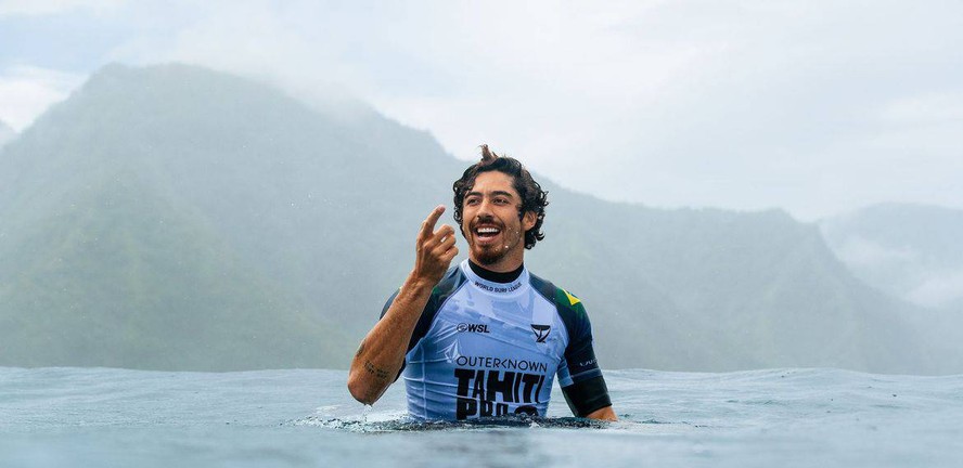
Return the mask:
{"type": "MultiPolygon", "coordinates": [[[[0,151],[0,365],[345,367],[466,166],[356,104],[99,72],[0,151]]],[[[583,299],[607,367],[961,372],[816,225],[543,185],[526,262],[583,299]]]]}

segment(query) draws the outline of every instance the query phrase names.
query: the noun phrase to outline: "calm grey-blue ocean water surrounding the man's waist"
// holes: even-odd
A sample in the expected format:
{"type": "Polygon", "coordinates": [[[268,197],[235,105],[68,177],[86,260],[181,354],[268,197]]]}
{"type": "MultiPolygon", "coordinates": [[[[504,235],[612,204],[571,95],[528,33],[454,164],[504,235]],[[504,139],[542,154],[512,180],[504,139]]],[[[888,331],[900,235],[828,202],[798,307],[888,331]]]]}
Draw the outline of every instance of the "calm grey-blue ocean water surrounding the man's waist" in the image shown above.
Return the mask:
{"type": "Polygon", "coordinates": [[[0,467],[961,467],[963,376],[607,370],[618,422],[414,424],[343,370],[0,368],[0,467]]]}

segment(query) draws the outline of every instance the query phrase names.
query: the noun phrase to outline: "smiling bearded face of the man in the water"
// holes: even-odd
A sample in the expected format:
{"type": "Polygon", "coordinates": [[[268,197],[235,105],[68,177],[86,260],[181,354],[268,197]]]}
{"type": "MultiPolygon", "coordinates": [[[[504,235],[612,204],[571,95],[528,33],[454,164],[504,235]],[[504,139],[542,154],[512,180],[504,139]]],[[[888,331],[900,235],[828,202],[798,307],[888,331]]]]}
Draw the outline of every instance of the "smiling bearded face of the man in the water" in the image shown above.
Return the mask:
{"type": "Polygon", "coordinates": [[[462,200],[462,233],[468,242],[468,257],[493,271],[511,271],[522,264],[525,231],[535,226],[535,212],[518,219],[522,198],[513,182],[503,172],[482,172],[462,200]]]}

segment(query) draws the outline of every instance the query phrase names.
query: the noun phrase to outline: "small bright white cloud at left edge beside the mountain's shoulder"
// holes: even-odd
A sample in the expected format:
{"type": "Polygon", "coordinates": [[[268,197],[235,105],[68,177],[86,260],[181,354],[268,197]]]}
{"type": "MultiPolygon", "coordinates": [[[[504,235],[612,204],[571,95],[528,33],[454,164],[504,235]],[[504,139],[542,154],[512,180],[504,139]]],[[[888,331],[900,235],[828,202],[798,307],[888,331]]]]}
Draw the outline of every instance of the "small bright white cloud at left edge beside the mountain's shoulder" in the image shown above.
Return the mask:
{"type": "Polygon", "coordinates": [[[51,104],[66,99],[85,78],[46,68],[10,67],[0,75],[0,120],[22,131],[51,104]]]}

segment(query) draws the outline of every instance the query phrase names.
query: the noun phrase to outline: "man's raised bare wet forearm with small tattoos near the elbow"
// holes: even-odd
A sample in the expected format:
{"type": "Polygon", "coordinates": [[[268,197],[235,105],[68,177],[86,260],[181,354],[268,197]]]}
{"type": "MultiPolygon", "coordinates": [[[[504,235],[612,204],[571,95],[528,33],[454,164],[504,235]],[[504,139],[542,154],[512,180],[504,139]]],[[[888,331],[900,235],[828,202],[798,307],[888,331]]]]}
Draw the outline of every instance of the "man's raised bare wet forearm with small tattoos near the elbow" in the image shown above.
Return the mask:
{"type": "Polygon", "coordinates": [[[394,382],[433,287],[409,275],[385,316],[361,341],[348,373],[348,391],[359,402],[373,404],[394,382]]]}

